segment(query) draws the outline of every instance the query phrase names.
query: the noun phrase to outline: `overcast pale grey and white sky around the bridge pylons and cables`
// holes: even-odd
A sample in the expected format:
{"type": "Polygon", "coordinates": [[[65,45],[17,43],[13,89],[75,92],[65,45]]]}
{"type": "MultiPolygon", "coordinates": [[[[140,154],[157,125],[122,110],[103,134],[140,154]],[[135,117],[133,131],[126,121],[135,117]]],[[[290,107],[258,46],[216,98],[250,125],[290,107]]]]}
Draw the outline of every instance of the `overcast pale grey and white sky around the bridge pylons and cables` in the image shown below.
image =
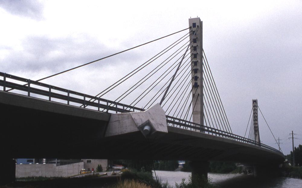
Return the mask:
{"type": "MultiPolygon", "coordinates": [[[[302,1],[0,1],[0,72],[37,80],[203,21],[207,55],[233,133],[252,99],[284,154],[302,144],[302,1]]],[[[177,38],[178,39],[178,38],[177,38]]],[[[172,40],[177,40],[172,38],[172,40]]],[[[170,39],[44,80],[96,95],[170,39]]],[[[260,138],[278,148],[259,117],[260,138]]]]}

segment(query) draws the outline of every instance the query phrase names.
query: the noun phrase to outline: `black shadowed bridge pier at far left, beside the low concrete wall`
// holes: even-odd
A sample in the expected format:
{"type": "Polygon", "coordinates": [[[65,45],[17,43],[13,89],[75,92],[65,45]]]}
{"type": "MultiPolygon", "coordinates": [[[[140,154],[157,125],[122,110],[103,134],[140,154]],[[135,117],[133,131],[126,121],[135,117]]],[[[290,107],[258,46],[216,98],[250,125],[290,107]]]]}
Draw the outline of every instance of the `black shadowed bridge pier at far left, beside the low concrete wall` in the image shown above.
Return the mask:
{"type": "Polygon", "coordinates": [[[16,180],[16,161],[13,159],[1,159],[0,167],[2,173],[0,176],[0,185],[5,185],[16,180]]]}

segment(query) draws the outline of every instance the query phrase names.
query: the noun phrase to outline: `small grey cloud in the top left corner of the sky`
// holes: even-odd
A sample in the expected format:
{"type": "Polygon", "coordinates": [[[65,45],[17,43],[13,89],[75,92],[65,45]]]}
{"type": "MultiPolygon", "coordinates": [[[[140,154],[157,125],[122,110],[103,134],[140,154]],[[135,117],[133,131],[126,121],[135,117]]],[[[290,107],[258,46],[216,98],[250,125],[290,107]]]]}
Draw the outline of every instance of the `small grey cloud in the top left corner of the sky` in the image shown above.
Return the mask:
{"type": "Polygon", "coordinates": [[[39,1],[0,1],[0,7],[8,11],[10,14],[24,16],[37,21],[43,19],[43,4],[39,1]]]}

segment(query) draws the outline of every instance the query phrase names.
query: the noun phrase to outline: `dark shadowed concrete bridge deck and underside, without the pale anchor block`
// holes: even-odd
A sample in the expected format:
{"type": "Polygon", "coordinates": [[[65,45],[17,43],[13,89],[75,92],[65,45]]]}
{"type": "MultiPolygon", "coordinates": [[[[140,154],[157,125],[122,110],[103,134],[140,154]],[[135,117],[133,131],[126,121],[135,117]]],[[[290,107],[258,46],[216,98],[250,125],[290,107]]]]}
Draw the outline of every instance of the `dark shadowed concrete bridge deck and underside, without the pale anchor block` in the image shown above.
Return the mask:
{"type": "Polygon", "coordinates": [[[282,163],[284,155],[223,137],[168,126],[104,138],[110,114],[0,91],[1,145],[10,158],[107,158],[282,163]]]}

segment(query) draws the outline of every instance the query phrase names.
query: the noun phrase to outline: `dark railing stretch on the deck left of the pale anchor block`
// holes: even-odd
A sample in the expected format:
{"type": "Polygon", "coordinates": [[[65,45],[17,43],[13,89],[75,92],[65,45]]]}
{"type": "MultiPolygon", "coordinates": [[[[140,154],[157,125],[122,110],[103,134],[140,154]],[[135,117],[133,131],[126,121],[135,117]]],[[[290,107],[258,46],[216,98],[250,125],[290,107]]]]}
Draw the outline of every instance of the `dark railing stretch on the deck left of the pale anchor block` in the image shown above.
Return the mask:
{"type": "Polygon", "coordinates": [[[42,98],[68,105],[81,106],[106,113],[143,111],[143,109],[134,106],[87,95],[77,91],[66,90],[64,88],[59,88],[53,85],[44,84],[3,72],[0,72],[0,77],[3,78],[0,80],[0,86],[3,87],[3,91],[11,91],[18,94],[42,98]]]}

